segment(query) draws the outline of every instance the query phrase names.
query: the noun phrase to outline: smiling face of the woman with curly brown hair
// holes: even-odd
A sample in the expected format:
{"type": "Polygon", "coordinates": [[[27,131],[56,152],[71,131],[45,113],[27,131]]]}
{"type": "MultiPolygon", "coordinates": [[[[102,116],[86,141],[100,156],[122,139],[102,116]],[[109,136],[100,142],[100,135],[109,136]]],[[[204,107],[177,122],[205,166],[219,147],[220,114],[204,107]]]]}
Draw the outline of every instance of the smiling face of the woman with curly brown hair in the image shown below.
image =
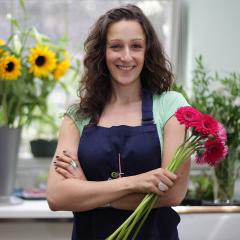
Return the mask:
{"type": "Polygon", "coordinates": [[[145,49],[146,37],[137,21],[121,20],[109,26],[106,64],[113,84],[140,82],[145,49]]]}

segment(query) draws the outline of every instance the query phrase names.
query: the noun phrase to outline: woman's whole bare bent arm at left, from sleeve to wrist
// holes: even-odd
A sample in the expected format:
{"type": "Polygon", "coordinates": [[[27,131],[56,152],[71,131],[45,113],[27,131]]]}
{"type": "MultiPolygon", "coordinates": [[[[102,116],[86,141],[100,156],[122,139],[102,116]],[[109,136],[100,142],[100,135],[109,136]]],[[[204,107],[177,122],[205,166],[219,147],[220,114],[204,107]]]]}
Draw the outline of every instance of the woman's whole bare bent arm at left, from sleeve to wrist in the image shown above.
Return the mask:
{"type": "MultiPolygon", "coordinates": [[[[74,122],[65,116],[48,177],[47,201],[52,210],[89,210],[119,199],[131,192],[131,186],[123,178],[114,181],[87,181],[80,165],[76,176],[71,178],[64,176],[66,170],[56,167],[55,163],[65,151],[76,158],[79,141],[79,130],[74,122]]],[[[71,168],[71,165],[67,164],[66,169],[68,167],[71,168]]]]}

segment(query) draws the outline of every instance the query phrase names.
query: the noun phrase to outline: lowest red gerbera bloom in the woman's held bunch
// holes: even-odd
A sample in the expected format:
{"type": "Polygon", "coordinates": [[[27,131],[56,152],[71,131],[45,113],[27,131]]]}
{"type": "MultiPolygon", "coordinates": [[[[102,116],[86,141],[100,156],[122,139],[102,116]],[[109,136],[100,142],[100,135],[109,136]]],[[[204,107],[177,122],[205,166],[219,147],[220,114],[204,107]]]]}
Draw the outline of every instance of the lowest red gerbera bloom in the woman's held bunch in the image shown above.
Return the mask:
{"type": "Polygon", "coordinates": [[[210,166],[217,165],[225,158],[228,152],[228,147],[219,139],[208,140],[205,143],[204,157],[210,166]]]}

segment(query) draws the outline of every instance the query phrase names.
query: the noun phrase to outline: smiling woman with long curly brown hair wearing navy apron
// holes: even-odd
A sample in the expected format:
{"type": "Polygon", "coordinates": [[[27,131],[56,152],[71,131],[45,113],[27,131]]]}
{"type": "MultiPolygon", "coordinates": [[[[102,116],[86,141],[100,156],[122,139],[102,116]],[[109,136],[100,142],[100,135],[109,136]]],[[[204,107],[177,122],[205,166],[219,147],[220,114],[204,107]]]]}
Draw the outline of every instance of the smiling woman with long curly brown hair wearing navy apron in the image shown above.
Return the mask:
{"type": "Polygon", "coordinates": [[[80,104],[67,110],[50,168],[48,203],[74,213],[72,239],[105,239],[146,193],[159,198],[138,239],[178,239],[178,205],[189,165],[165,169],[185,129],[188,105],[168,91],[172,73],[156,33],[134,6],[101,16],[85,42],[80,104]]]}

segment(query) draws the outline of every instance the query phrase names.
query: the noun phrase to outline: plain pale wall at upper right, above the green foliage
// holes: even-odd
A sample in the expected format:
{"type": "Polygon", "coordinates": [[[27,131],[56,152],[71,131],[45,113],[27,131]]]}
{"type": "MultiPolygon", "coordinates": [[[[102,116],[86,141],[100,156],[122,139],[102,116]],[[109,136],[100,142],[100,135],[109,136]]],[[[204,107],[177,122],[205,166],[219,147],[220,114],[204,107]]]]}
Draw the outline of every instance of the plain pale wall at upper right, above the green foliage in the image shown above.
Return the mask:
{"type": "Polygon", "coordinates": [[[195,57],[209,70],[240,72],[240,1],[182,0],[179,77],[190,86],[195,57]]]}

